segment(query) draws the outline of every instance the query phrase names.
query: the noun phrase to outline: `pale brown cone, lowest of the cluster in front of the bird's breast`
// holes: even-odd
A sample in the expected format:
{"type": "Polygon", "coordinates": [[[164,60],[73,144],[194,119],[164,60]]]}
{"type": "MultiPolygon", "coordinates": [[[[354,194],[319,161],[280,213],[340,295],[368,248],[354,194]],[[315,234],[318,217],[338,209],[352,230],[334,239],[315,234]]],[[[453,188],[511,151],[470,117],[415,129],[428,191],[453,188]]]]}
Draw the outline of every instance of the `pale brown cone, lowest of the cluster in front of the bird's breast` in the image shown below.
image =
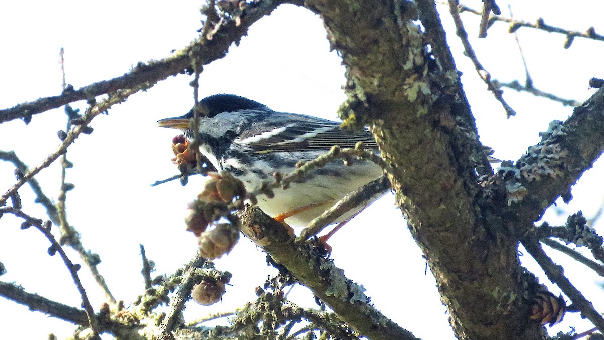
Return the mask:
{"type": "Polygon", "coordinates": [[[233,249],[239,240],[239,226],[219,223],[212,230],[202,232],[198,238],[199,252],[208,260],[221,258],[233,249]]]}

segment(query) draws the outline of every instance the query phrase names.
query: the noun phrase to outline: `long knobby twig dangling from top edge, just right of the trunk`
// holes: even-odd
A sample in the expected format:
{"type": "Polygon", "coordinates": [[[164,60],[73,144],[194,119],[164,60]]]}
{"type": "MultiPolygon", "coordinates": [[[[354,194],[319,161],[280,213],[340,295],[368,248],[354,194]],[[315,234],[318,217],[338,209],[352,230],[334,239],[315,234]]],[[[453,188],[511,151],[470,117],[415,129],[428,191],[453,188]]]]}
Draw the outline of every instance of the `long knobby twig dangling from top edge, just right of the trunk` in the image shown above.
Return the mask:
{"type": "Polygon", "coordinates": [[[472,60],[472,64],[474,64],[474,68],[476,68],[478,75],[487,84],[487,89],[493,93],[495,99],[497,99],[503,106],[504,110],[506,110],[507,117],[509,118],[512,116],[516,116],[516,111],[514,111],[512,109],[512,106],[510,106],[506,102],[506,100],[503,99],[503,91],[495,87],[495,84],[493,84],[493,82],[491,81],[491,75],[489,71],[485,70],[483,65],[481,65],[478,61],[478,57],[474,53],[474,49],[472,48],[470,41],[467,39],[466,29],[463,27],[463,22],[461,21],[461,18],[459,16],[458,5],[458,0],[449,0],[449,11],[451,12],[451,16],[453,17],[453,21],[455,22],[455,28],[457,28],[456,33],[457,36],[461,39],[461,44],[463,44],[466,56],[469,57],[470,60],[472,60]]]}

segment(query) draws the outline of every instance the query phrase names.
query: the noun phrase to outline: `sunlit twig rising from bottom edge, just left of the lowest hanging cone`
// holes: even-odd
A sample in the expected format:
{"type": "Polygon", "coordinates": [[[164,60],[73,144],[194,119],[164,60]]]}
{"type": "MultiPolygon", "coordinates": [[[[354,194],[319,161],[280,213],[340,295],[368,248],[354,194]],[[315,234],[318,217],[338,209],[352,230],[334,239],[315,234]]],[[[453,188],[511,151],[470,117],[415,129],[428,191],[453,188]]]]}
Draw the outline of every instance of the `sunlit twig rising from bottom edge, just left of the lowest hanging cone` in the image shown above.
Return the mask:
{"type": "Polygon", "coordinates": [[[193,258],[191,263],[188,265],[187,274],[182,280],[178,292],[176,292],[176,295],[174,298],[172,298],[170,313],[161,322],[161,325],[159,325],[159,340],[170,339],[170,333],[172,333],[175,329],[176,320],[180,317],[181,312],[184,309],[185,302],[187,302],[188,298],[191,296],[191,290],[193,289],[193,274],[196,272],[196,269],[201,268],[204,263],[205,258],[203,258],[201,253],[198,252],[196,257],[193,258]]]}

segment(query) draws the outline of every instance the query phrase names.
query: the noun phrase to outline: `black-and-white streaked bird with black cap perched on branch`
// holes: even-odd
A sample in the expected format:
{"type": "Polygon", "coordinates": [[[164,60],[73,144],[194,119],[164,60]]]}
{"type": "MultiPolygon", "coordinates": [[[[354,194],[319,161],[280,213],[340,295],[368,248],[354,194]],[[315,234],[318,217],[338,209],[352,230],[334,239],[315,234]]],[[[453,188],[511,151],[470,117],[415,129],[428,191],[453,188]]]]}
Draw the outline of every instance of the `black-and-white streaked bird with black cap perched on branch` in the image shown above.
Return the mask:
{"type": "MultiPolygon", "coordinates": [[[[252,191],[264,181],[272,181],[275,172],[291,173],[298,162],[316,159],[334,145],[353,148],[357,142],[363,142],[365,149],[374,149],[377,153],[376,141],[367,129],[348,134],[340,129],[338,122],[273,111],[262,103],[234,94],[214,94],[199,104],[206,113],[198,117],[201,154],[217,170],[241,180],[246,191],[252,191]]],[[[158,120],[157,125],[180,129],[192,140],[195,136],[190,125],[193,112],[191,109],[184,116],[158,120]]],[[[369,160],[354,160],[349,166],[335,160],[294,181],[286,190],[276,189],[274,198],[257,197],[257,204],[278,221],[306,226],[345,195],[376,180],[382,173],[382,168],[369,160]]],[[[339,229],[387,192],[387,189],[377,192],[332,224],[338,223],[336,230],[339,229]]],[[[321,241],[326,244],[333,232],[335,230],[321,241]]]]}

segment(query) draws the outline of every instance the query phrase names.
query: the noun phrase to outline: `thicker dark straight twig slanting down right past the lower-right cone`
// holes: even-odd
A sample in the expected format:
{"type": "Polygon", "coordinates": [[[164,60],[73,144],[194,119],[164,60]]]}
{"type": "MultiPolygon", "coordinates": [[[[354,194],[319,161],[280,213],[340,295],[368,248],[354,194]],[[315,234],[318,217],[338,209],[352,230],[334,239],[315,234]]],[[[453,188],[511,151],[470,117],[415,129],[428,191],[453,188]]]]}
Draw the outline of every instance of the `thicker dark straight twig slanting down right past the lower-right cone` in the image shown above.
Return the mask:
{"type": "Polygon", "coordinates": [[[564,276],[562,267],[553,263],[553,261],[545,254],[537,238],[533,235],[529,235],[522,240],[522,245],[535,261],[537,261],[539,267],[541,267],[545,272],[545,275],[547,275],[547,278],[560,287],[562,292],[571,299],[573,305],[581,311],[582,316],[588,318],[600,332],[603,332],[604,318],[602,318],[602,315],[594,309],[593,304],[583,296],[580,290],[576,289],[568,278],[564,276]]]}

